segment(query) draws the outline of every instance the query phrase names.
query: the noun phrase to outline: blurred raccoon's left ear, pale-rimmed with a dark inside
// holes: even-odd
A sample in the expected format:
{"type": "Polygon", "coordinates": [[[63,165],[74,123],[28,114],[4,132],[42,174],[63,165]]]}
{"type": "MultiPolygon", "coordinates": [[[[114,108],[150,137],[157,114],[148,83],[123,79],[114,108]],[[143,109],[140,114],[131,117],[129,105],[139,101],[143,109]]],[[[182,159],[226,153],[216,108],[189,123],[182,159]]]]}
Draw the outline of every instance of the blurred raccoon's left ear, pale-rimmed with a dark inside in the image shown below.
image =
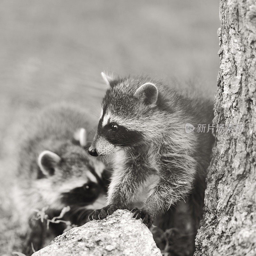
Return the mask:
{"type": "Polygon", "coordinates": [[[49,150],[44,150],[38,156],[38,165],[41,171],[46,176],[52,176],[55,172],[55,167],[60,163],[60,156],[49,150]]]}

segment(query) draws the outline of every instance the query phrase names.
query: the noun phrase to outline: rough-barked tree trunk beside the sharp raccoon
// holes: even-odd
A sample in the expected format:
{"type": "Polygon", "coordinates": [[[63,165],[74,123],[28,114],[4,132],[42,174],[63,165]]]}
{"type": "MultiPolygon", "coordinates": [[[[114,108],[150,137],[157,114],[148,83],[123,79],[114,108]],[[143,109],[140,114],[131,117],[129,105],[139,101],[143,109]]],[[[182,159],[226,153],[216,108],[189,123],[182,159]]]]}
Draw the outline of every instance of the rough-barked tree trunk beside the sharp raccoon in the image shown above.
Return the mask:
{"type": "Polygon", "coordinates": [[[220,23],[213,120],[219,129],[195,255],[256,255],[255,0],[221,0],[220,23]],[[229,131],[236,124],[243,131],[229,131]]]}

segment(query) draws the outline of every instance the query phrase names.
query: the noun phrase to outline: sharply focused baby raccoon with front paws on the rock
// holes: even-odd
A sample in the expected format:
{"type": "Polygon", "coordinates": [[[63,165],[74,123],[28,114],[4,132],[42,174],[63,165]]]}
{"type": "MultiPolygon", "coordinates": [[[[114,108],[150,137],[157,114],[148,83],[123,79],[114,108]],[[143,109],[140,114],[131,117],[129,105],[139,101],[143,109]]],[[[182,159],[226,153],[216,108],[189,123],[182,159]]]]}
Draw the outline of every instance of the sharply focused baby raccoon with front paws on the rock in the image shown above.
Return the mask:
{"type": "Polygon", "coordinates": [[[206,169],[214,138],[196,132],[211,124],[213,103],[189,98],[174,88],[147,77],[114,78],[102,73],[109,89],[102,101],[97,133],[89,148],[92,156],[116,154],[107,206],[89,219],[103,219],[126,208],[143,184],[154,182],[133,217],[148,227],[168,209],[186,200],[194,219],[194,232],[202,218],[206,169]],[[195,131],[185,132],[185,125],[195,131]]]}

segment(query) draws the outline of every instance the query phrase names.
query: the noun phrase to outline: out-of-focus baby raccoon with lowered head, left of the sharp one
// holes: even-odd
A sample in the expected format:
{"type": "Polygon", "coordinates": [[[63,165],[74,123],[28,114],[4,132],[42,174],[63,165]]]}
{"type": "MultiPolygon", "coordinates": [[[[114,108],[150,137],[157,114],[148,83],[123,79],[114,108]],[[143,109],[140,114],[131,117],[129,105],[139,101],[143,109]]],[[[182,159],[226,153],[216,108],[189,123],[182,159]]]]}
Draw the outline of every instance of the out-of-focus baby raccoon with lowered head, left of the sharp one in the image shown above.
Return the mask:
{"type": "MultiPolygon", "coordinates": [[[[90,119],[81,109],[55,105],[31,120],[24,132],[14,201],[26,236],[26,255],[32,254],[32,246],[37,251],[44,245],[46,215],[42,212],[51,220],[69,206],[63,219],[81,225],[93,209],[105,205],[108,173],[84,151],[86,131],[93,127],[90,119]]],[[[58,236],[66,225],[50,227],[58,236]]]]}

